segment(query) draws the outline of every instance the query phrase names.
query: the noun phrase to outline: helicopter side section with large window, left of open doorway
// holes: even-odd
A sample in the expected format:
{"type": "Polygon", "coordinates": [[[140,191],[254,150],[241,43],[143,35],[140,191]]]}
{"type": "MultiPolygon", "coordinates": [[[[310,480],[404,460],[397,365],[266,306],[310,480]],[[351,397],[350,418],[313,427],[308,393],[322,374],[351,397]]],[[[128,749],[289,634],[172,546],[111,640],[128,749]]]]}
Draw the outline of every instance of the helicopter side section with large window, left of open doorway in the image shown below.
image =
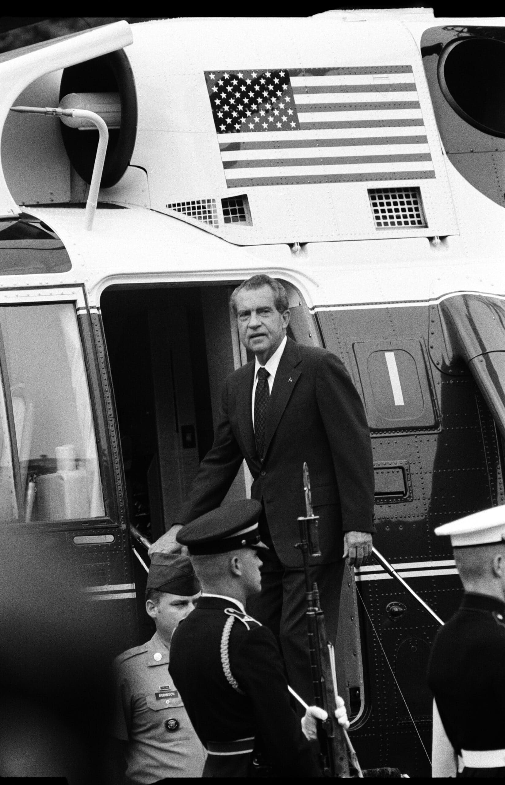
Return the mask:
{"type": "Polygon", "coordinates": [[[47,535],[51,559],[70,557],[90,601],[110,601],[117,653],[136,637],[135,595],[96,367],[81,289],[2,291],[2,532],[47,535]]]}

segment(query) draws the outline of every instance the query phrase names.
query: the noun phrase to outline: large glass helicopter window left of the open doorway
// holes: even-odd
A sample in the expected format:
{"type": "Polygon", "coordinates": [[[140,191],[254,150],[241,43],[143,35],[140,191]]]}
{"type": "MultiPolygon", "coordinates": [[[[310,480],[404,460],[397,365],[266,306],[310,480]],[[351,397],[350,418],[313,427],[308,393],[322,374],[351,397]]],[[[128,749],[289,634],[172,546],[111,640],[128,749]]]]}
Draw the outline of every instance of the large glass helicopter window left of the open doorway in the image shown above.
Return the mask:
{"type": "Polygon", "coordinates": [[[104,516],[74,306],[0,308],[25,520],[104,516]]]}

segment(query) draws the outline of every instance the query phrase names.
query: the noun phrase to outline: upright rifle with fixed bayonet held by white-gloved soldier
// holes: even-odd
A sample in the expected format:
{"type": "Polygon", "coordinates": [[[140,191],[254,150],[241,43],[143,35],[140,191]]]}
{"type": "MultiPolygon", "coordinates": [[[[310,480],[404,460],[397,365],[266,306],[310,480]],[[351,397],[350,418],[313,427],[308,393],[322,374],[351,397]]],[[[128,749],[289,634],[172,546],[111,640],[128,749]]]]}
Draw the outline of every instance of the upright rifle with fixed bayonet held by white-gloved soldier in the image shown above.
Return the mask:
{"type": "MultiPolygon", "coordinates": [[[[310,494],[310,478],[307,464],[303,464],[303,487],[305,490],[306,516],[298,518],[300,542],[295,546],[302,551],[303,569],[306,579],[307,626],[309,633],[310,670],[312,674],[314,698],[316,705],[324,709],[328,718],[318,722],[318,740],[320,759],[324,776],[349,777],[349,760],[347,748],[357,775],[363,776],[356,753],[350,743],[349,736],[335,718],[337,708],[337,679],[335,671],[335,650],[328,641],[324,624],[324,613],[320,607],[317,583],[311,582],[309,573],[309,556],[320,556],[319,538],[317,535],[318,515],[314,515],[310,494]]],[[[298,696],[297,696],[298,697],[298,696]]]]}

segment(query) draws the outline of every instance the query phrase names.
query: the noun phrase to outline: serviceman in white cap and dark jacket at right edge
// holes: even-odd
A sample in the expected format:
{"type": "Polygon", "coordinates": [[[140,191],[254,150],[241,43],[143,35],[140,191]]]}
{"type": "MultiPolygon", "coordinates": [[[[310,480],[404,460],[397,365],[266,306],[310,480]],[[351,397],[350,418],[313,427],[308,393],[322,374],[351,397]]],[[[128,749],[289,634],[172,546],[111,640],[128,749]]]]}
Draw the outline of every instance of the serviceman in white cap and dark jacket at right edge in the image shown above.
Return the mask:
{"type": "Polygon", "coordinates": [[[451,536],[465,594],[428,663],[433,776],[505,777],[505,506],[435,534],[451,536]]]}

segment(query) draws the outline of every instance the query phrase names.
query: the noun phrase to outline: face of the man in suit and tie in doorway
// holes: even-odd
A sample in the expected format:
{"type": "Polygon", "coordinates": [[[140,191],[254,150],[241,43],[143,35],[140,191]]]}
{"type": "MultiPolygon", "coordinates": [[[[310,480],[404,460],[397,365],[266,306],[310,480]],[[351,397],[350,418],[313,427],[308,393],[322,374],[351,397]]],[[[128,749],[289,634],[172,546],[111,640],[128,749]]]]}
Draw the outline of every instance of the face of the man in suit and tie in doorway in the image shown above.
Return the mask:
{"type": "Polygon", "coordinates": [[[243,289],[236,295],[236,318],[240,341],[265,363],[280,345],[289,323],[289,311],[277,311],[273,291],[243,289]]]}

